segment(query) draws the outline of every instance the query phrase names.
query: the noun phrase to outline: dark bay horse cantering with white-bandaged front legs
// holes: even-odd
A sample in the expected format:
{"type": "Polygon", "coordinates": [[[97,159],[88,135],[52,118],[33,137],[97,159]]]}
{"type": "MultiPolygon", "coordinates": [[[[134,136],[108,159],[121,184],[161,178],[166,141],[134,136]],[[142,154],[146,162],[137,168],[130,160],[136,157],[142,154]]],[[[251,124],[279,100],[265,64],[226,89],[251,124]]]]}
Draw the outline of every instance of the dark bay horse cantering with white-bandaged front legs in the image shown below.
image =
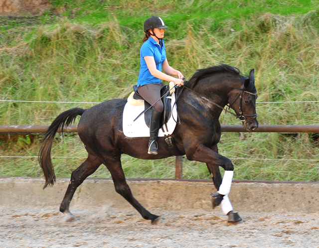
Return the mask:
{"type": "MultiPolygon", "coordinates": [[[[221,203],[222,211],[228,215],[229,222],[241,219],[232,211],[228,199],[234,166],[228,158],[218,154],[217,143],[221,135],[218,119],[227,105],[235,111],[234,115],[242,121],[245,129],[256,129],[256,99],[254,69],[247,78],[241,76],[238,69],[221,64],[197,70],[191,79],[185,82],[176,103],[180,124],[176,125],[171,134],[175,145],[180,154],[186,154],[188,160],[206,163],[218,190],[217,193],[212,193],[213,206],[221,203]],[[225,170],[223,178],[219,166],[225,170]]],[[[158,155],[148,154],[149,137],[126,137],[122,127],[126,103],[126,99],[114,99],[87,110],[74,108],[65,111],[46,131],[39,151],[39,163],[45,177],[43,188],[52,186],[55,181],[51,147],[56,132],[59,128],[63,131],[78,115],[82,116],[78,124],[78,134],[88,157],[72,172],[70,184],[60,206],[60,211],[67,216],[67,221],[75,220],[69,206],[77,187],[104,164],[112,175],[116,192],[132,204],[144,219],[151,220],[152,224],[161,222],[159,216],[151,214],[133,197],[125,180],[121,154],[140,159],[160,159],[180,154],[171,154],[164,137],[158,139],[158,155]]]]}

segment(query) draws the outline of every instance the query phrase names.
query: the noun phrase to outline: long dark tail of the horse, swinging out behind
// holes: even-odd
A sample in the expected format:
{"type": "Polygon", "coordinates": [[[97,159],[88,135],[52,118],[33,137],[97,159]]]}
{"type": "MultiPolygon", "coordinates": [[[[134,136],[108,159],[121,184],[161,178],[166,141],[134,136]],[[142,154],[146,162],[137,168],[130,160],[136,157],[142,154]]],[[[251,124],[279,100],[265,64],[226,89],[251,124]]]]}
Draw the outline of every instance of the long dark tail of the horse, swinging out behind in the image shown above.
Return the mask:
{"type": "Polygon", "coordinates": [[[48,185],[53,186],[55,182],[54,168],[51,161],[51,147],[55,133],[60,129],[63,134],[65,128],[72,124],[77,116],[82,116],[85,110],[74,108],[60,114],[44,133],[44,138],[40,144],[38,161],[43,170],[45,184],[43,189],[48,185]]]}

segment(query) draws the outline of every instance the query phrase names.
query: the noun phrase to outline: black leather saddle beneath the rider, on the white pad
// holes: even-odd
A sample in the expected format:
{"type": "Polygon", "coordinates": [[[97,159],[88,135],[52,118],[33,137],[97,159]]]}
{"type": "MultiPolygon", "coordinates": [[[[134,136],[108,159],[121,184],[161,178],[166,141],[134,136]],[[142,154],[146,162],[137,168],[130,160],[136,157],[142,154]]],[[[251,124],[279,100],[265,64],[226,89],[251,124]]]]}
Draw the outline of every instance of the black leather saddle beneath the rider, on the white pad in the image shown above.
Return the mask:
{"type": "MultiPolygon", "coordinates": [[[[134,85],[133,89],[134,89],[133,99],[144,101],[144,106],[145,106],[144,109],[148,110],[144,113],[144,119],[145,119],[146,125],[148,127],[150,127],[151,114],[152,114],[152,108],[150,108],[151,104],[149,104],[147,101],[145,101],[144,98],[138,93],[138,86],[137,85],[134,85]]],[[[171,94],[172,93],[171,93],[169,85],[167,85],[166,87],[164,87],[160,90],[160,97],[162,97],[160,101],[162,101],[163,107],[164,107],[163,112],[162,112],[163,115],[161,118],[160,126],[163,126],[164,124],[166,124],[171,116],[171,94]],[[162,97],[165,94],[166,94],[166,97],[162,97]]]]}

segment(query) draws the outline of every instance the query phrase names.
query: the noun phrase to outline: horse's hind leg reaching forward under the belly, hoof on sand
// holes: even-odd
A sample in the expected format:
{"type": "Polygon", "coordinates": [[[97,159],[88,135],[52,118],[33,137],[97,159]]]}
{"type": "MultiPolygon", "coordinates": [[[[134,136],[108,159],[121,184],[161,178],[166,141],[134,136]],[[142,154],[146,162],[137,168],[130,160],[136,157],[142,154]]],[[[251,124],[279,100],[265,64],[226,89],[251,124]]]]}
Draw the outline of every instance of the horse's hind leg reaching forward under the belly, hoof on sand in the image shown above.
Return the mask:
{"type": "Polygon", "coordinates": [[[162,220],[160,216],[151,214],[133,197],[131,189],[125,180],[121,159],[109,157],[106,161],[107,164],[105,165],[112,175],[116,192],[123,196],[137,211],[139,211],[144,219],[151,220],[153,225],[160,224],[162,220]]]}

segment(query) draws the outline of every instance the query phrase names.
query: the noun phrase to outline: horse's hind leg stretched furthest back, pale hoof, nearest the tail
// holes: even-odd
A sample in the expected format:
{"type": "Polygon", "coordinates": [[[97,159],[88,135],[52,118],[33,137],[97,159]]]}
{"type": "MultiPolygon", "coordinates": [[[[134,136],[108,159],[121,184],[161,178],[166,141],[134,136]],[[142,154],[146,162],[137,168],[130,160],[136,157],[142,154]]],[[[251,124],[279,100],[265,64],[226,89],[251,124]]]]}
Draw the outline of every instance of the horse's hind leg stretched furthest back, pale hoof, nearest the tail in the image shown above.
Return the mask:
{"type": "Polygon", "coordinates": [[[91,174],[93,174],[101,165],[101,161],[95,156],[89,157],[71,174],[71,180],[64,195],[63,201],[60,206],[60,211],[66,215],[67,222],[76,220],[74,215],[71,214],[69,208],[72,197],[80,184],[91,174]]]}

